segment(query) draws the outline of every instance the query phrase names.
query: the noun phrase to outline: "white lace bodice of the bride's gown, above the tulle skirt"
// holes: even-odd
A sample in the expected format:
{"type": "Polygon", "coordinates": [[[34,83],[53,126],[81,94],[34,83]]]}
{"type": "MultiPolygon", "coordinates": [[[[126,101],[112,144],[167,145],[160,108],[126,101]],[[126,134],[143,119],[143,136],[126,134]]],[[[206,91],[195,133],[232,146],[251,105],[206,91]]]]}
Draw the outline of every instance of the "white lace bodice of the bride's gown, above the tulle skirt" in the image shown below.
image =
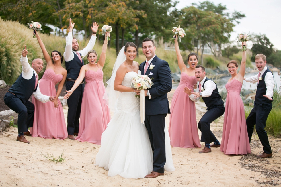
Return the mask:
{"type": "MultiPolygon", "coordinates": [[[[126,87],[131,86],[132,79],[137,75],[136,72],[126,73],[122,85],[126,87]]],[[[120,93],[117,101],[117,110],[124,111],[134,115],[136,112],[140,111],[140,99],[135,97],[134,92],[122,92],[120,93]]]]}

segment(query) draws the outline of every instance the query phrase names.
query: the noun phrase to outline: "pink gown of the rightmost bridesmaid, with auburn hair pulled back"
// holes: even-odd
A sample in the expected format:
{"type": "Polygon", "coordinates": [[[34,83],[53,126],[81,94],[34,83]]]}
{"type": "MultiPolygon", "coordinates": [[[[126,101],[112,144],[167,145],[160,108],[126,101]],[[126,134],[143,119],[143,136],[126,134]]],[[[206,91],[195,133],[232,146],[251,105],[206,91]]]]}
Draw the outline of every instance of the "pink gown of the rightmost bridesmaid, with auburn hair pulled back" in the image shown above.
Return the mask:
{"type": "Polygon", "coordinates": [[[220,151],[226,155],[245,155],[251,153],[244,103],[240,97],[242,83],[239,80],[233,79],[225,84],[225,88],[227,90],[227,97],[220,151]]]}

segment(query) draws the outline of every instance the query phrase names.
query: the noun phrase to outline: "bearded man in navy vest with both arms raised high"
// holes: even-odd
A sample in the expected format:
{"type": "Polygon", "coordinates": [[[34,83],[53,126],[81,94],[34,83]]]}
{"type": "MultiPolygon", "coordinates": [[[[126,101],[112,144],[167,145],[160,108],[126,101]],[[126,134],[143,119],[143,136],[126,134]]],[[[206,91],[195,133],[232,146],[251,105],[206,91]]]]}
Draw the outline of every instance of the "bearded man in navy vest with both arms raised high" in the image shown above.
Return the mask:
{"type": "MultiPolygon", "coordinates": [[[[75,80],[79,76],[81,67],[84,65],[83,57],[87,56],[87,53],[93,49],[96,40],[96,34],[99,25],[94,22],[93,27],[91,27],[93,34],[87,45],[82,50],[79,50],[79,44],[76,38],[72,36],[72,29],[75,23],[69,20],[69,33],[66,39],[65,52],[63,57],[65,59],[65,68],[67,70],[67,81],[65,84],[66,90],[71,90],[75,80]]],[[[84,91],[84,81],[81,82],[72,95],[67,99],[68,112],[67,112],[67,132],[68,138],[75,140],[74,135],[78,135],[79,131],[79,118],[81,112],[82,96],[84,91]]]]}

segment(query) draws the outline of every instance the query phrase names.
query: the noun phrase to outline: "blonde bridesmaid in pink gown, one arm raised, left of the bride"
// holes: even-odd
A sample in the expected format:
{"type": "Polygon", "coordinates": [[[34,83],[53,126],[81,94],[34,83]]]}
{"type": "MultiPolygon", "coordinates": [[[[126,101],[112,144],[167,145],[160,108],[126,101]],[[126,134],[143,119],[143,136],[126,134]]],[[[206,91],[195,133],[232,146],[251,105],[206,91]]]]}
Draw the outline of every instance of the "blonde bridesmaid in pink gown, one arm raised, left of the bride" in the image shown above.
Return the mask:
{"type": "Polygon", "coordinates": [[[67,94],[64,96],[64,98],[69,97],[85,77],[86,85],[82,99],[79,133],[75,139],[97,145],[101,144],[102,133],[110,121],[110,111],[106,105],[106,100],[103,99],[105,87],[103,83],[104,73],[102,72],[106,59],[107,36],[110,36],[110,34],[106,33],[105,35],[98,62],[97,52],[95,50],[89,51],[87,58],[90,63],[82,66],[73,87],[66,91],[67,94]]]}

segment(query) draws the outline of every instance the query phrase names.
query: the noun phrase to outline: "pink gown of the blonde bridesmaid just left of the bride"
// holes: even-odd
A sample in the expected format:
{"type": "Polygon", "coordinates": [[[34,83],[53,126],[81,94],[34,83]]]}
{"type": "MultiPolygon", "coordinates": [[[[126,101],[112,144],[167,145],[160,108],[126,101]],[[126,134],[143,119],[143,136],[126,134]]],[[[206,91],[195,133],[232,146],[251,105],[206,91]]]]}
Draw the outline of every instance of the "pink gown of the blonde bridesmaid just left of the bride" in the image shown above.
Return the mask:
{"type": "Polygon", "coordinates": [[[110,111],[104,96],[105,87],[101,69],[96,72],[86,71],[85,89],[83,93],[79,133],[76,137],[81,142],[101,144],[102,133],[110,121],[110,111]]]}

